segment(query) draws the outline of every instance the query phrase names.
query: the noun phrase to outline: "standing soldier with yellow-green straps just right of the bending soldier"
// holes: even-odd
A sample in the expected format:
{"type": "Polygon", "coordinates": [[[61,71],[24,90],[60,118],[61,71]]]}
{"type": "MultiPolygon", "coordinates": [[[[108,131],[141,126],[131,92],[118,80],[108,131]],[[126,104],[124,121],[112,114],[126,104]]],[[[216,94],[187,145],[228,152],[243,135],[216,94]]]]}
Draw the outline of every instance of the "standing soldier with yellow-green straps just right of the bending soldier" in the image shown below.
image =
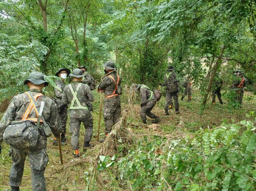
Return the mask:
{"type": "Polygon", "coordinates": [[[163,77],[163,84],[159,85],[166,86],[166,102],[164,105],[164,115],[169,115],[168,109],[172,108],[172,97],[174,98],[175,112],[179,112],[179,101],[178,101],[178,92],[180,91],[179,81],[177,80],[177,75],[174,71],[173,66],[168,66],[167,73],[163,77]]]}

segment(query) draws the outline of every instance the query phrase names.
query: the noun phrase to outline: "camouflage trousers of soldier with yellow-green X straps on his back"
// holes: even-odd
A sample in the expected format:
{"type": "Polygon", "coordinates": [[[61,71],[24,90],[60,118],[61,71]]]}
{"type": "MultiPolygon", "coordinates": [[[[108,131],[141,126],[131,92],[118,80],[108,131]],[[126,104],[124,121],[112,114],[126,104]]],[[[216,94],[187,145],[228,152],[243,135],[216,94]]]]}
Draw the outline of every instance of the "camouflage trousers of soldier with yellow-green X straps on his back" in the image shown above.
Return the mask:
{"type": "Polygon", "coordinates": [[[88,113],[84,118],[70,118],[70,132],[71,132],[71,147],[73,150],[78,150],[79,147],[79,132],[81,122],[84,123],[85,135],[84,142],[90,142],[93,136],[93,116],[88,113]]]}

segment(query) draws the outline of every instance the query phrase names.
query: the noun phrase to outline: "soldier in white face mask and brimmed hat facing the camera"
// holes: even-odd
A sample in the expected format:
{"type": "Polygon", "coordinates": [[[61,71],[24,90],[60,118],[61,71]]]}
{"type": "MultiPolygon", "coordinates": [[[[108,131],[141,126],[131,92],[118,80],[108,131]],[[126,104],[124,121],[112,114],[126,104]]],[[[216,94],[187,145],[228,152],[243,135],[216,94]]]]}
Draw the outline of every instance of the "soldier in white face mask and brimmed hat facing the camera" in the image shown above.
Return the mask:
{"type": "MultiPolygon", "coordinates": [[[[67,68],[60,68],[59,71],[55,74],[55,76],[59,76],[60,79],[55,81],[55,87],[54,87],[54,94],[56,99],[58,100],[57,106],[58,106],[58,112],[61,119],[61,127],[63,129],[62,135],[61,135],[61,144],[66,144],[66,120],[67,120],[67,106],[63,106],[62,104],[62,92],[65,88],[65,79],[70,75],[70,70],[67,68]]],[[[57,138],[54,137],[53,145],[57,146],[58,141],[57,138]]]]}

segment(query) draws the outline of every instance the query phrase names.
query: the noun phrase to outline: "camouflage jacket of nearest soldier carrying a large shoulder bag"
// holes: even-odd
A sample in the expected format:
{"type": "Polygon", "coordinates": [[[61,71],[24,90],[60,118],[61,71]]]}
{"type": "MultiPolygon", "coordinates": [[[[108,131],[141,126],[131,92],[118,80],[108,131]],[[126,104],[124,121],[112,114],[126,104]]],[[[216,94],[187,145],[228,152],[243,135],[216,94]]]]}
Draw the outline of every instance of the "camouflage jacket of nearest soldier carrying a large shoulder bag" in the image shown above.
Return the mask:
{"type": "MultiPolygon", "coordinates": [[[[41,93],[38,89],[29,90],[33,95],[41,93]]],[[[42,96],[38,99],[38,105],[41,105],[42,96]]],[[[12,121],[20,121],[30,104],[30,99],[26,93],[20,93],[16,95],[10,102],[9,107],[7,108],[4,116],[0,121],[0,144],[3,140],[3,134],[5,128],[11,124],[12,121]]],[[[45,98],[44,110],[42,116],[44,117],[46,123],[49,123],[50,128],[53,132],[53,135],[58,137],[59,134],[63,131],[60,126],[60,118],[57,112],[57,106],[50,98],[45,98]]],[[[28,118],[37,118],[35,110],[32,109],[28,118]]],[[[40,123],[40,127],[43,128],[43,124],[40,123]]],[[[44,149],[46,148],[47,138],[40,134],[37,141],[36,148],[44,149]]]]}

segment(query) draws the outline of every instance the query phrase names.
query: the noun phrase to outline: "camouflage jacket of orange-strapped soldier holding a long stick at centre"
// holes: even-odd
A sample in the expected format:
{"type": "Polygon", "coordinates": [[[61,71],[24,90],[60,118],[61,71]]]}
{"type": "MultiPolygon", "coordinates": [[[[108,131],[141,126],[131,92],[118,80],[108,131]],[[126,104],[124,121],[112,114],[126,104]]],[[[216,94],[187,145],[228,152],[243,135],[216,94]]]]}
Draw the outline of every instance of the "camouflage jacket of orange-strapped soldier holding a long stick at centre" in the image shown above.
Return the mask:
{"type": "MultiPolygon", "coordinates": [[[[113,76],[115,81],[117,82],[117,73],[116,72],[111,72],[109,75],[113,76]]],[[[121,84],[121,77],[119,77],[119,83],[118,85],[121,84]]],[[[115,82],[108,76],[104,76],[101,83],[98,86],[98,89],[104,90],[105,96],[111,95],[116,88],[115,82]]],[[[117,93],[117,90],[115,91],[117,93]]]]}

